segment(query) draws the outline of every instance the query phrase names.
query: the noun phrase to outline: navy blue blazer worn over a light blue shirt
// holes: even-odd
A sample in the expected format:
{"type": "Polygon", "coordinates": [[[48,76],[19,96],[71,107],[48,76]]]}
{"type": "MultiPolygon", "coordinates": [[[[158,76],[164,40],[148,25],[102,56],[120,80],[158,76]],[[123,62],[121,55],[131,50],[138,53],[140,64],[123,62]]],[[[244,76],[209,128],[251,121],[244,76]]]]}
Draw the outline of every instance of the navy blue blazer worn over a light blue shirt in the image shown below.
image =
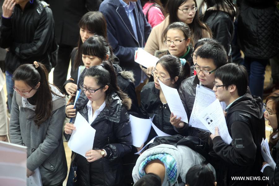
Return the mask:
{"type": "Polygon", "coordinates": [[[135,86],[138,86],[142,70],[135,62],[135,51],[138,47],[144,47],[151,32],[151,26],[146,21],[142,12],[140,1],[136,2],[133,10],[137,28],[138,40],[135,38],[130,20],[125,8],[119,0],[104,0],[100,5],[107,21],[108,42],[113,48],[113,53],[119,58],[122,69],[132,70],[135,74],[135,86]]]}

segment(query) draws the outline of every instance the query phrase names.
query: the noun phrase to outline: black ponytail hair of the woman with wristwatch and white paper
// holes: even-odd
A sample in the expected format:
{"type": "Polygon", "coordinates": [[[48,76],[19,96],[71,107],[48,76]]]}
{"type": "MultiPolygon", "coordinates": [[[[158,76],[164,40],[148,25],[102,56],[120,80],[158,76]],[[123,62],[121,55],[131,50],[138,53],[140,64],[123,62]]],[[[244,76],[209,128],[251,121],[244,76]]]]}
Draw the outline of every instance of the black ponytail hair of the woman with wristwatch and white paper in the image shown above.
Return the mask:
{"type": "Polygon", "coordinates": [[[114,92],[117,93],[121,100],[125,100],[126,98],[128,98],[128,95],[119,88],[115,70],[110,62],[104,61],[100,65],[92,66],[89,69],[86,69],[84,78],[86,76],[94,78],[99,86],[108,85],[108,90],[106,91],[107,105],[111,103],[111,95],[114,92]]]}

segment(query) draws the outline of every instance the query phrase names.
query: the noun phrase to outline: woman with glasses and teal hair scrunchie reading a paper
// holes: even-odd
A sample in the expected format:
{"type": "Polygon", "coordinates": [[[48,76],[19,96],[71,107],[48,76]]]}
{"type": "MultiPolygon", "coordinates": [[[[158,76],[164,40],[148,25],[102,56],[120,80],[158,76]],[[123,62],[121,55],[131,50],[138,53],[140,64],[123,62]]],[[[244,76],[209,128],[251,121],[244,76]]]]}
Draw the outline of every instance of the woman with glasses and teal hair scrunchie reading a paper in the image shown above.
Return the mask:
{"type": "MultiPolygon", "coordinates": [[[[183,60],[185,62],[185,60],[183,60]]],[[[178,134],[179,128],[183,126],[172,126],[170,124],[170,108],[162,92],[159,80],[166,86],[178,88],[180,82],[190,74],[189,64],[182,62],[174,55],[162,56],[155,69],[151,72],[154,82],[146,84],[140,93],[141,107],[140,111],[143,118],[153,117],[153,123],[161,131],[169,135],[178,134]]],[[[151,129],[148,140],[156,136],[153,128],[151,129]]],[[[148,142],[147,140],[147,142],[148,142]]]]}

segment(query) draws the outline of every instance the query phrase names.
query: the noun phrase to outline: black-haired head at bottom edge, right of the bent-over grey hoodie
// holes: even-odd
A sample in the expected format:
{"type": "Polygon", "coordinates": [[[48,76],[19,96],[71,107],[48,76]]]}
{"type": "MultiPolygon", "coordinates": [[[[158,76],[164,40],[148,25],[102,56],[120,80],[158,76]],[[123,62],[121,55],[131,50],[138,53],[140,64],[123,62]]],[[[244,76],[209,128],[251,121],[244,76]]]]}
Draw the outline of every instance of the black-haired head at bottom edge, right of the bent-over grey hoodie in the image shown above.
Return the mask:
{"type": "Polygon", "coordinates": [[[214,186],[215,182],[213,172],[206,165],[192,166],[185,179],[189,186],[214,186]]]}

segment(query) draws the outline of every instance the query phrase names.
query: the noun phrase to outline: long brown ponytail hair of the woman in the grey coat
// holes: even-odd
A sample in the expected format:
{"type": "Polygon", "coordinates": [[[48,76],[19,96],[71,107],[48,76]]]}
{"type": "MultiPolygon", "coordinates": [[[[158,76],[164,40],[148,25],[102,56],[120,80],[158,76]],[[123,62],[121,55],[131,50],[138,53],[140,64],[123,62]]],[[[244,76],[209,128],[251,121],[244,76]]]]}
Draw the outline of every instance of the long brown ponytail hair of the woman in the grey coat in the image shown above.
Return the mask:
{"type": "Polygon", "coordinates": [[[42,63],[38,63],[37,68],[35,68],[34,64],[20,65],[13,73],[14,81],[24,81],[25,84],[32,87],[33,89],[35,89],[37,84],[40,82],[40,86],[38,87],[37,92],[35,93],[36,94],[36,100],[35,100],[36,116],[34,122],[37,125],[40,125],[42,122],[46,121],[49,117],[51,117],[51,113],[52,113],[51,94],[57,95],[55,92],[51,91],[51,88],[48,83],[47,74],[48,74],[47,69],[42,63]]]}

